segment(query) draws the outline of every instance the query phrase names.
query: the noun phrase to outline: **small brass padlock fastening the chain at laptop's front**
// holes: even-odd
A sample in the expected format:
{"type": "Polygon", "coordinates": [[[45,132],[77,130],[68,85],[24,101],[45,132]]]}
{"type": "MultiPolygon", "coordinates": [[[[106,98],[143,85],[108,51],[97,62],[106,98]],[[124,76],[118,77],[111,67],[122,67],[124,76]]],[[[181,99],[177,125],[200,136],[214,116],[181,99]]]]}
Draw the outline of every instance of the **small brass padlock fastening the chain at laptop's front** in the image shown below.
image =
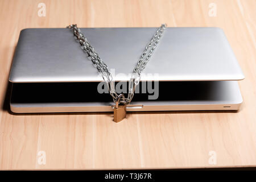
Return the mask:
{"type": "Polygon", "coordinates": [[[119,104],[120,99],[124,98],[123,94],[119,94],[115,101],[114,122],[120,122],[126,117],[126,104],[119,104]]]}

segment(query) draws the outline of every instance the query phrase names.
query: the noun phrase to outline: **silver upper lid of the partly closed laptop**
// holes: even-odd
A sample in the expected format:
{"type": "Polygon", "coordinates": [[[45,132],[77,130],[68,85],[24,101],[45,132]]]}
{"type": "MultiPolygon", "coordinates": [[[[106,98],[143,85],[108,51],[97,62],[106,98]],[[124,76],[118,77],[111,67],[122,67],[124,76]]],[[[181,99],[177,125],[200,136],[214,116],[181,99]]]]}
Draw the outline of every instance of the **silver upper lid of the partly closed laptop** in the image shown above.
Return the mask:
{"type": "MultiPolygon", "coordinates": [[[[130,80],[133,68],[157,28],[81,28],[115,81],[130,80]]],[[[168,27],[141,80],[242,80],[240,65],[220,28],[168,27]]],[[[102,81],[68,28],[20,32],[11,82],[102,81]]]]}

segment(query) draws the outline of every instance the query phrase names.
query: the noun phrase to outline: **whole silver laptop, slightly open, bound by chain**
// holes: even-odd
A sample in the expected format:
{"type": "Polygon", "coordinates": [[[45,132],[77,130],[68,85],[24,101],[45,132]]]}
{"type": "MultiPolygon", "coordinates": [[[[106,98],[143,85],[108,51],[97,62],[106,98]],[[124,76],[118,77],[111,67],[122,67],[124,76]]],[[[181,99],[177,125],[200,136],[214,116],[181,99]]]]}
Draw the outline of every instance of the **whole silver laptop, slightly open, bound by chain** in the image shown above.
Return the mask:
{"type": "MultiPolygon", "coordinates": [[[[80,28],[127,93],[157,28],[80,28]]],[[[147,63],[127,111],[238,110],[244,77],[221,28],[168,27],[147,63]]],[[[20,32],[9,81],[14,113],[113,111],[101,75],[68,28],[20,32]]]]}

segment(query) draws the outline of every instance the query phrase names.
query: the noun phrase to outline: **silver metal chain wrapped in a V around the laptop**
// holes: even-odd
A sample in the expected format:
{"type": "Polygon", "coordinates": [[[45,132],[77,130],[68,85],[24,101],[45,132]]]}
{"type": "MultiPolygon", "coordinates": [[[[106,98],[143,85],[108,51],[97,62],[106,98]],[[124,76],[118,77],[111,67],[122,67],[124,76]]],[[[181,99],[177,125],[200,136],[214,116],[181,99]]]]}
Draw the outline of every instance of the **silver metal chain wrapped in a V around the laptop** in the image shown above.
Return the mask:
{"type": "MultiPolygon", "coordinates": [[[[98,56],[98,53],[94,50],[92,45],[85,38],[84,34],[82,34],[82,32],[80,31],[80,29],[77,28],[76,24],[71,24],[67,28],[73,31],[75,39],[77,40],[77,42],[81,44],[82,50],[84,50],[84,52],[87,53],[88,59],[90,59],[93,62],[94,67],[96,67],[98,72],[101,73],[102,78],[108,84],[109,93],[112,96],[113,101],[116,102],[118,94],[115,91],[115,82],[113,80],[112,73],[110,73],[109,71],[108,66],[104,63],[104,61],[101,60],[101,58],[98,56]]],[[[127,98],[122,97],[119,103],[130,104],[134,96],[135,88],[139,84],[139,81],[141,80],[141,72],[146,67],[146,64],[148,63],[150,57],[154,53],[156,46],[158,46],[159,40],[163,35],[164,28],[166,28],[166,24],[162,24],[162,26],[159,27],[158,30],[156,30],[150,42],[148,42],[146,48],[144,49],[141,55],[141,58],[138,60],[137,65],[133,69],[133,74],[131,75],[129,81],[128,96],[127,98]]]]}

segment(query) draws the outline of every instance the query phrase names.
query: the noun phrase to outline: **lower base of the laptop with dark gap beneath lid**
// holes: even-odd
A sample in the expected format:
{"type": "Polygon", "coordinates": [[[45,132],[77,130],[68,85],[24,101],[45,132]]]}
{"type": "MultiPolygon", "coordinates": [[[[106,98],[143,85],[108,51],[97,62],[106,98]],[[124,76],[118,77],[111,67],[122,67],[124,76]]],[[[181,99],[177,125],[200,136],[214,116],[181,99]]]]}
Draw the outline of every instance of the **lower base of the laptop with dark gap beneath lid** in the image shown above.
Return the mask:
{"type": "MultiPolygon", "coordinates": [[[[109,93],[98,93],[97,85],[98,82],[14,83],[11,111],[113,111],[114,104],[109,93]]],[[[238,110],[242,103],[237,81],[160,81],[158,86],[154,86],[153,93],[142,93],[142,90],[135,93],[127,111],[238,110]],[[157,98],[149,100],[148,96],[157,98]]],[[[142,89],[142,82],[138,89],[142,89]]]]}

